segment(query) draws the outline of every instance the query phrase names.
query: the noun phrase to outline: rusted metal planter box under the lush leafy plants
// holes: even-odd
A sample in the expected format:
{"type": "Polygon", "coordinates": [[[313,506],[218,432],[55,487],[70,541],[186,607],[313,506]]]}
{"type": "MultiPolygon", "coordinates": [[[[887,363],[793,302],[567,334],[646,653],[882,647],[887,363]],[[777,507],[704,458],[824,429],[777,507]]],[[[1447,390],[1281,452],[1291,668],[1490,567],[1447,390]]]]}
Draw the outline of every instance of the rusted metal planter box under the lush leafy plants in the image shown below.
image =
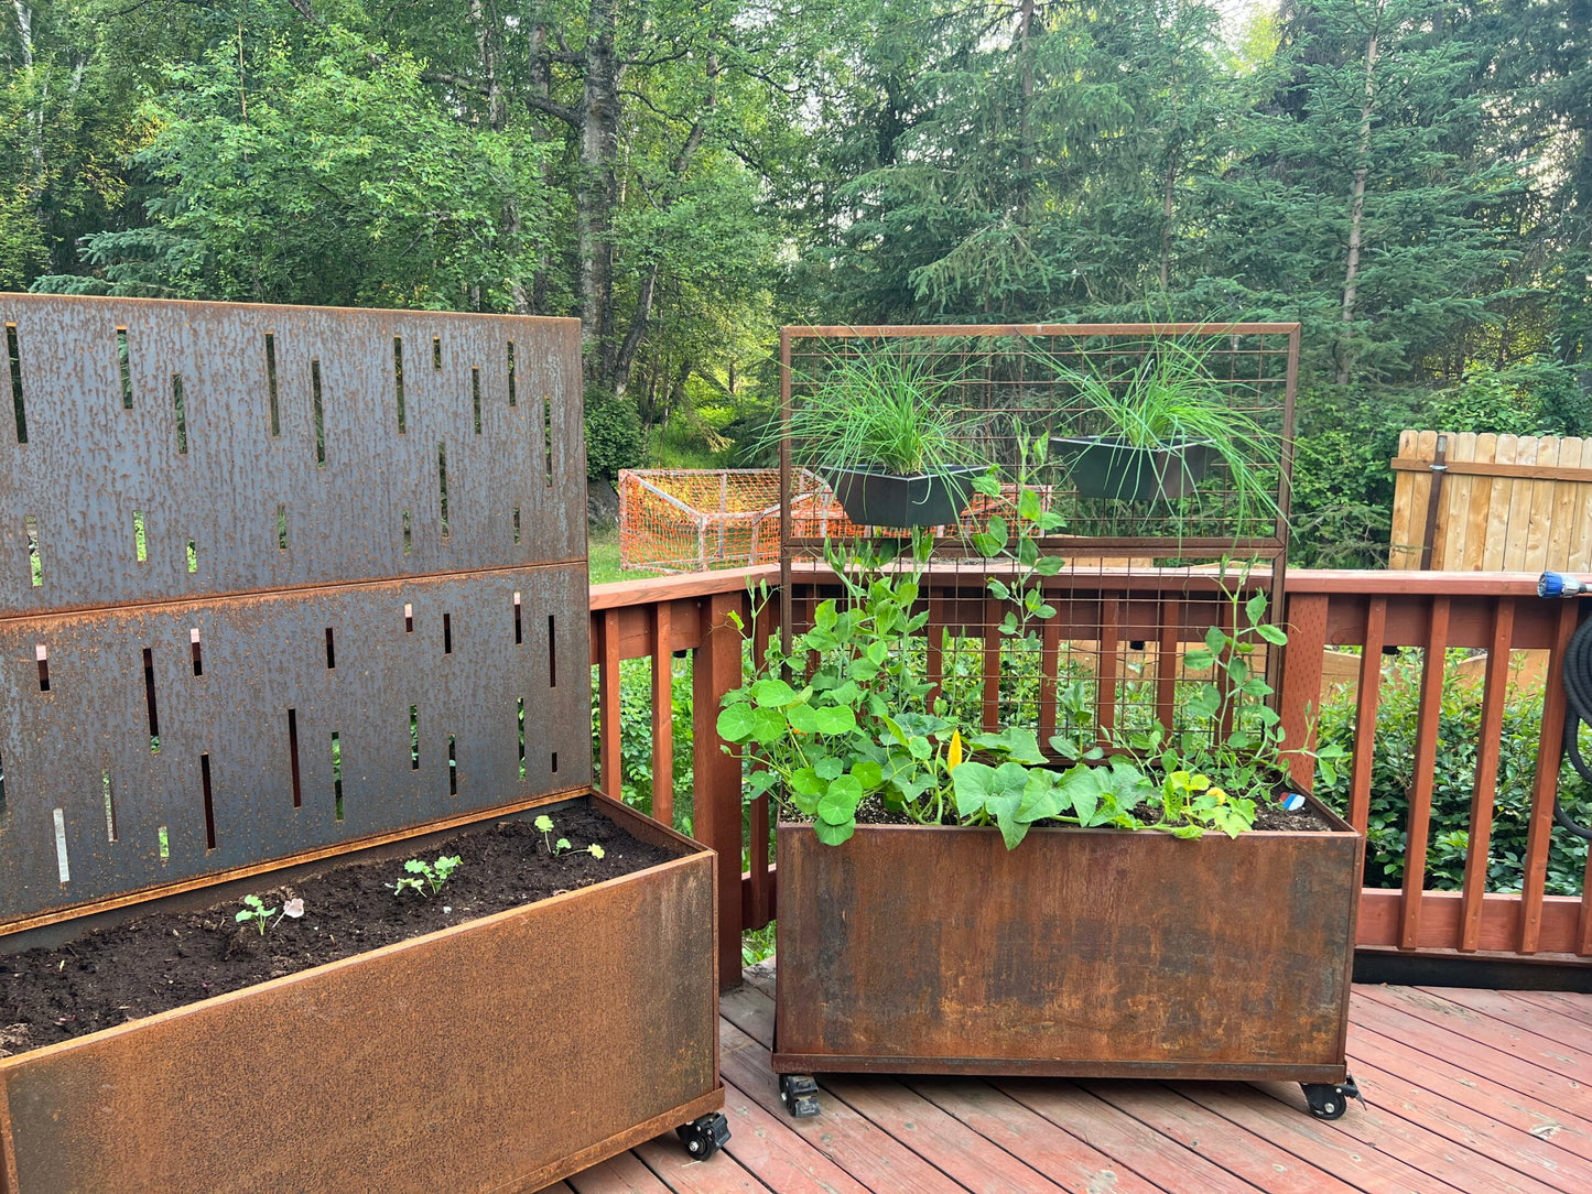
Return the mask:
{"type": "Polygon", "coordinates": [[[778,826],[774,1068],[1340,1083],[1363,839],[778,826]]]}

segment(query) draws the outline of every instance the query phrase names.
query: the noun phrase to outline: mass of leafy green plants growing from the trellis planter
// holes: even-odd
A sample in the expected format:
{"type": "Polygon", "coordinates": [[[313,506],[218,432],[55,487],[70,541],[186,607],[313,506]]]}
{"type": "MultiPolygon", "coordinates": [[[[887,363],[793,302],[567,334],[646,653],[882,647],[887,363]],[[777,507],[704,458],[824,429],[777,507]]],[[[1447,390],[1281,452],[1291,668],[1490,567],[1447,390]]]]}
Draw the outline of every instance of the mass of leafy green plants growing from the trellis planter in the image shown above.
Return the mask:
{"type": "MultiPolygon", "coordinates": [[[[1033,544],[1054,521],[1019,497],[1019,514],[1024,509],[1032,517],[1019,541],[1033,544]]],[[[1013,541],[1006,525],[990,519],[990,527],[976,546],[1003,551],[1013,541]]],[[[1286,642],[1266,622],[1264,592],[1229,592],[1226,624],[1234,629],[1213,626],[1186,653],[1189,667],[1213,673],[1186,700],[1197,729],[1081,736],[1075,728],[1044,750],[1027,726],[965,732],[914,670],[922,650],[912,640],[928,621],[915,611],[928,546],[919,535],[898,548],[829,548],[842,597],[818,603],[788,651],[771,643],[718,716],[720,736],[748,764],[748,799],[778,799],[828,845],[856,831],[858,809],[869,801],[922,825],[995,826],[1008,849],[1035,825],[1180,837],[1235,837],[1253,828],[1256,809],[1285,774],[1280,720],[1266,704],[1272,689],[1250,664],[1261,645],[1286,642]]],[[[990,578],[993,595],[1032,603],[1032,616],[1052,616],[1043,600],[1051,573],[1035,567],[1027,549],[1014,562],[1009,583],[990,578]]],[[[766,603],[764,589],[755,605],[766,603]]],[[[1028,634],[1028,616],[1005,629],[1028,634]]],[[[1323,769],[1331,758],[1320,753],[1323,769]]]]}

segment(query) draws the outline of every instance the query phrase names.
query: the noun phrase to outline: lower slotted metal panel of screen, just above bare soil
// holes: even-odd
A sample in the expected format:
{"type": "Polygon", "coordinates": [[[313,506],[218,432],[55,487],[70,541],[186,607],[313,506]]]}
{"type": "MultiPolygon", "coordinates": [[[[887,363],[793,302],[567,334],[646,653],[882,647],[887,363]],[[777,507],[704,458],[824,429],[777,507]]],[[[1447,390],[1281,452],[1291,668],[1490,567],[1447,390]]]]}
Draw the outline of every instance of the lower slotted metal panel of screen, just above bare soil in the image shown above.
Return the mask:
{"type": "Polygon", "coordinates": [[[0,621],[5,920],[589,783],[589,672],[552,672],[586,656],[586,586],[578,564],[0,621]]]}

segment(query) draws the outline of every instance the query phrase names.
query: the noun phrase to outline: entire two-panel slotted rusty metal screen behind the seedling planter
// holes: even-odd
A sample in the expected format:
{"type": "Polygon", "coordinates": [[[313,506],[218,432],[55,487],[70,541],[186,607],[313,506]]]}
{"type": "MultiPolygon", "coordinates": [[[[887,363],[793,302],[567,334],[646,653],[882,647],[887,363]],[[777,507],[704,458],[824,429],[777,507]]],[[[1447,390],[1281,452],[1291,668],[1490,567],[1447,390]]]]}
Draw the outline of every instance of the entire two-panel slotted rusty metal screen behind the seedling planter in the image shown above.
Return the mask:
{"type": "Polygon", "coordinates": [[[575,320],[0,314],[0,927],[589,785],[575,320]]]}

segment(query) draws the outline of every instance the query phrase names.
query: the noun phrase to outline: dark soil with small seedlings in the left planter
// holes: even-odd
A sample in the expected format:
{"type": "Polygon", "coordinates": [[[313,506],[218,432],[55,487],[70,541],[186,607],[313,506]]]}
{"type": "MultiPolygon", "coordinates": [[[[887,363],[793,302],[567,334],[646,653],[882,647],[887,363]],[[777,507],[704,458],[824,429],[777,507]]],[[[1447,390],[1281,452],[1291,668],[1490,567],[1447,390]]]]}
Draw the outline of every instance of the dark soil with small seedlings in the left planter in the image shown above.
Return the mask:
{"type": "MultiPolygon", "coordinates": [[[[304,901],[298,920],[272,917],[264,936],[234,915],[239,903],[199,912],[158,912],[89,933],[59,947],[0,958],[0,1057],[84,1036],[170,1008],[252,987],[338,958],[431,933],[665,863],[675,855],[638,842],[613,821],[573,804],[551,810],[552,841],[603,847],[548,855],[529,820],[473,828],[417,855],[458,855],[443,890],[395,895],[403,858],[336,866],[282,887],[256,890],[266,907],[304,901]]],[[[269,882],[263,877],[261,882],[269,882]]],[[[462,974],[462,982],[470,976],[462,974]]]]}

